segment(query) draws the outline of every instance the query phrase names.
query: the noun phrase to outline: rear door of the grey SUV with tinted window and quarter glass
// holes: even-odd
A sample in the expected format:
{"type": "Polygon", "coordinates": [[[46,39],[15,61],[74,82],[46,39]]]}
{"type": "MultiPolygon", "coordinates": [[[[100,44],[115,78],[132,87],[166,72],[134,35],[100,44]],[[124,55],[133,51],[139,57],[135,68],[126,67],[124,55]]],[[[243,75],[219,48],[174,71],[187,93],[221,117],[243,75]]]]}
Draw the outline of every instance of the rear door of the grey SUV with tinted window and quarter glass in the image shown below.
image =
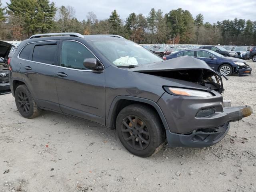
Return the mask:
{"type": "Polygon", "coordinates": [[[40,107],[60,111],[54,73],[59,41],[27,44],[18,55],[22,78],[40,107]]]}

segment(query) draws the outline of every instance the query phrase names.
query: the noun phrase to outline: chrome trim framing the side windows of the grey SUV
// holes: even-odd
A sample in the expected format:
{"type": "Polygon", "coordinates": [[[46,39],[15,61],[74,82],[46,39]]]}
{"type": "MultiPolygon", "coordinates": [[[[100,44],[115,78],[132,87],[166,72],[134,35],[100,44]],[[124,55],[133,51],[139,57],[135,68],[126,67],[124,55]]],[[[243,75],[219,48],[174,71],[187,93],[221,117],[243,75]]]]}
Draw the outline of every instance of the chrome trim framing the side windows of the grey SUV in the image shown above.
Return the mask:
{"type": "Polygon", "coordinates": [[[103,66],[103,70],[74,69],[74,68],[62,67],[62,66],[58,66],[58,65],[51,65],[51,64],[47,64],[47,63],[41,63],[41,62],[37,62],[37,61],[32,61],[32,60],[27,60],[27,59],[22,59],[22,58],[20,58],[20,53],[22,52],[22,50],[24,49],[24,47],[27,46],[28,44],[40,43],[40,42],[50,42],[50,41],[73,41],[73,42],[77,42],[77,43],[82,44],[81,42],[76,41],[76,40],[63,40],[63,39],[55,39],[55,40],[45,40],[45,41],[29,42],[29,43],[25,44],[25,45],[22,47],[22,49],[21,49],[20,52],[18,53],[17,58],[18,58],[18,59],[21,59],[21,60],[24,60],[24,61],[35,62],[35,63],[38,63],[38,64],[44,64],[44,65],[49,65],[49,66],[55,66],[55,67],[59,67],[59,68],[70,69],[70,70],[76,70],[76,71],[90,71],[90,72],[96,72],[96,71],[104,72],[104,71],[105,71],[105,67],[104,67],[104,65],[102,64],[102,62],[101,62],[101,61],[98,59],[98,57],[97,57],[86,45],[84,45],[84,44],[82,44],[82,45],[83,45],[86,49],[88,49],[88,50],[94,55],[94,57],[100,62],[100,64],[103,66]]]}

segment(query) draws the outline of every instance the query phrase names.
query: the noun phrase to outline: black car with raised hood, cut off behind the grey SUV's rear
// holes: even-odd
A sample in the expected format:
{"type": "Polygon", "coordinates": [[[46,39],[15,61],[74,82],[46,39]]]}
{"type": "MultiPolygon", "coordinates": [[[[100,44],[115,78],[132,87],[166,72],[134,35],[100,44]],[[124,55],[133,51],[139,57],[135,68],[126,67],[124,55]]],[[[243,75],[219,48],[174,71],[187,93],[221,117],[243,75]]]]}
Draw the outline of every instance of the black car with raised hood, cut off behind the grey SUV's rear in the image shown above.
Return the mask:
{"type": "Polygon", "coordinates": [[[10,90],[8,54],[11,48],[12,44],[0,41],[0,93],[10,90]]]}

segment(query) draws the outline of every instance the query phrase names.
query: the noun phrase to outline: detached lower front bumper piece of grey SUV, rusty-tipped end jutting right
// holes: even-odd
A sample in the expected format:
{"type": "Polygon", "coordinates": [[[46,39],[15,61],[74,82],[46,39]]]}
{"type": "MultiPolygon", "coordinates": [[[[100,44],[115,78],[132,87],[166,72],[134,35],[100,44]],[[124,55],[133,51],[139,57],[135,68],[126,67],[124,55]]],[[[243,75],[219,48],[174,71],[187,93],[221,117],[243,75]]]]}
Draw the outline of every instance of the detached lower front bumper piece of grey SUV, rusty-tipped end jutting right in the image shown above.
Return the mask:
{"type": "MultiPolygon", "coordinates": [[[[170,147],[207,147],[218,143],[230,128],[229,122],[238,121],[252,114],[250,106],[224,107],[221,121],[225,119],[225,123],[217,128],[202,128],[194,130],[188,134],[172,133],[166,130],[168,145],[170,147]]],[[[218,118],[216,119],[218,121],[218,118]]]]}

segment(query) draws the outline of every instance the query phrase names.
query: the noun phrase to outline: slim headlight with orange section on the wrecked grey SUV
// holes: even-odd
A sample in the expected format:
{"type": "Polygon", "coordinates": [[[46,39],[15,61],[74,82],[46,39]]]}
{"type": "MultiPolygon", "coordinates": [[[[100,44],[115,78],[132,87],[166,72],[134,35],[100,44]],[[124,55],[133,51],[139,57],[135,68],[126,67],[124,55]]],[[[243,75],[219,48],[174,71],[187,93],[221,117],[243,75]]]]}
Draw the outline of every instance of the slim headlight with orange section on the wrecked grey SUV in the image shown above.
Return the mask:
{"type": "Polygon", "coordinates": [[[175,88],[175,87],[168,87],[171,93],[181,96],[194,96],[194,97],[212,97],[213,95],[209,92],[205,91],[198,91],[193,89],[184,89],[184,88],[175,88]]]}

